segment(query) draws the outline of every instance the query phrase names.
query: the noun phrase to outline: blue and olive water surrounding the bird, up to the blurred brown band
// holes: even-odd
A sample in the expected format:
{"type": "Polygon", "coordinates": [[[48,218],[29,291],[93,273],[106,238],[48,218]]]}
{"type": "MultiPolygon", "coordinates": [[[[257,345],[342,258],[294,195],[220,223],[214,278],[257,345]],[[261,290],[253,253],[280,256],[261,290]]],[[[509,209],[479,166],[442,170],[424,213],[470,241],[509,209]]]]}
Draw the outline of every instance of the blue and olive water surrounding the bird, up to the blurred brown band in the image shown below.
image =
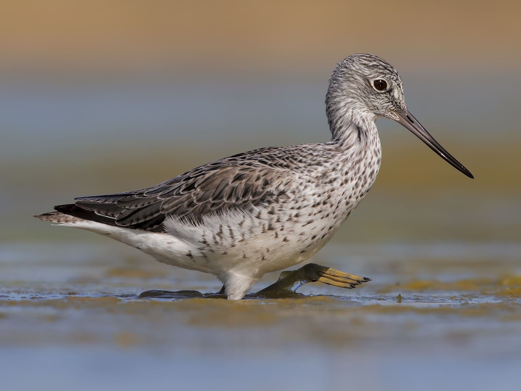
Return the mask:
{"type": "Polygon", "coordinates": [[[137,299],[145,290],[216,292],[220,284],[31,215],[76,196],[154,185],[239,151],[324,141],[323,85],[7,89],[2,389],[519,389],[521,187],[512,178],[521,155],[505,87],[515,83],[510,74],[494,78],[483,95],[470,76],[421,80],[410,84],[422,97],[413,112],[476,180],[382,121],[374,188],[311,260],[373,280],[241,302],[137,299]],[[245,90],[257,99],[245,100],[245,90]]]}

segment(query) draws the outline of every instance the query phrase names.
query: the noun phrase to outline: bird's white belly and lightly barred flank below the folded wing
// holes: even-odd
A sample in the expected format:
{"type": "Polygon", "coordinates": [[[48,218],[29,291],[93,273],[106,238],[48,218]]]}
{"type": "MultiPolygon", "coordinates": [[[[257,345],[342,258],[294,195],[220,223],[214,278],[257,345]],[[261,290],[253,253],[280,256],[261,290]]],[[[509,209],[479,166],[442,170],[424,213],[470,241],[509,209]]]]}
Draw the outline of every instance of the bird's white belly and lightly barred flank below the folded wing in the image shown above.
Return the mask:
{"type": "Polygon", "coordinates": [[[251,214],[229,214],[207,218],[199,225],[167,219],[168,233],[92,221],[60,225],[107,236],[173,266],[217,276],[232,272],[260,278],[265,273],[299,264],[324,247],[340,222],[334,229],[329,229],[329,219],[321,223],[320,226],[309,224],[304,227],[287,223],[271,225],[263,218],[251,218],[251,214]],[[240,222],[243,222],[241,226],[240,222]]]}

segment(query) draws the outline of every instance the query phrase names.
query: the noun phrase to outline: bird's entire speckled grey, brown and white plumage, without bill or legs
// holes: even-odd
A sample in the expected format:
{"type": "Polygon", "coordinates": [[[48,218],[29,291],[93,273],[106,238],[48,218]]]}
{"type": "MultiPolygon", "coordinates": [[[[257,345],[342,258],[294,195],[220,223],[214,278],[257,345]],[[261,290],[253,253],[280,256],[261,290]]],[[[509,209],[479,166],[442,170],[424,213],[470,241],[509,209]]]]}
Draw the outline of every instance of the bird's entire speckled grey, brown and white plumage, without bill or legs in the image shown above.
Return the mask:
{"type": "Polygon", "coordinates": [[[375,181],[376,118],[399,120],[406,110],[394,68],[374,55],[352,55],[330,78],[329,142],[241,153],[147,189],[76,198],[39,217],[212,273],[228,298],[241,299],[263,274],[327,243],[375,181]],[[377,91],[374,79],[387,80],[389,91],[377,91]]]}

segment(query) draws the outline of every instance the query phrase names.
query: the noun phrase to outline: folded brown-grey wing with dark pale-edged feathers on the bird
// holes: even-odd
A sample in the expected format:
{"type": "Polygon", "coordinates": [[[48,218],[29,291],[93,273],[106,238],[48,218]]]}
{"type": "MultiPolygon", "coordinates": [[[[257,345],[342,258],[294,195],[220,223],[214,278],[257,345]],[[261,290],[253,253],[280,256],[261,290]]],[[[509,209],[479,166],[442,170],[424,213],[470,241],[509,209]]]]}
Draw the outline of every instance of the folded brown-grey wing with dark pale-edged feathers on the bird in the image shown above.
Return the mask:
{"type": "Polygon", "coordinates": [[[143,190],[78,197],[76,211],[83,210],[84,218],[85,211],[94,212],[118,226],[161,232],[169,215],[200,222],[209,213],[248,210],[285,197],[288,169],[244,157],[225,158],[143,190]]]}

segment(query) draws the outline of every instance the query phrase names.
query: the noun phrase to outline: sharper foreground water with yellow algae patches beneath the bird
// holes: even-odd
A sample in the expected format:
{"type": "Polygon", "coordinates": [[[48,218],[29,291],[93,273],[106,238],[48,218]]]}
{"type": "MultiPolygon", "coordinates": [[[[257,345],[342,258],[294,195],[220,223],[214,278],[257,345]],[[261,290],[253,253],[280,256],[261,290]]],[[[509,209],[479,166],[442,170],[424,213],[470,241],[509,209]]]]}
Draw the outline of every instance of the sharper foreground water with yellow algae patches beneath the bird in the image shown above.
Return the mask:
{"type": "Polygon", "coordinates": [[[518,389],[518,243],[331,243],[316,263],[373,280],[241,302],[137,299],[219,284],[99,243],[3,247],[9,389],[518,389]]]}

